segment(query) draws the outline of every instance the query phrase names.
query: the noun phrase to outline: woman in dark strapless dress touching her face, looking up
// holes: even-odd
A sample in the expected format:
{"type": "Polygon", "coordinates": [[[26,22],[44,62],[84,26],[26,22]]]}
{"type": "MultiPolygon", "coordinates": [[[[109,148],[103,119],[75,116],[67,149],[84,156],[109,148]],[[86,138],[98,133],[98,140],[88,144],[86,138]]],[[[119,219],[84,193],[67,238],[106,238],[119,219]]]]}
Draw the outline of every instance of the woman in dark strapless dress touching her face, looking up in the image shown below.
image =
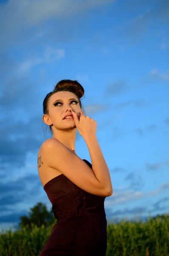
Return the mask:
{"type": "Polygon", "coordinates": [[[40,181],[57,223],[40,256],[105,256],[105,198],[112,195],[109,169],[96,138],[96,122],[85,116],[77,81],[62,80],[43,101],[43,122],[52,138],[37,156],[40,181]],[[89,149],[92,164],[76,155],[76,130],[89,149]]]}

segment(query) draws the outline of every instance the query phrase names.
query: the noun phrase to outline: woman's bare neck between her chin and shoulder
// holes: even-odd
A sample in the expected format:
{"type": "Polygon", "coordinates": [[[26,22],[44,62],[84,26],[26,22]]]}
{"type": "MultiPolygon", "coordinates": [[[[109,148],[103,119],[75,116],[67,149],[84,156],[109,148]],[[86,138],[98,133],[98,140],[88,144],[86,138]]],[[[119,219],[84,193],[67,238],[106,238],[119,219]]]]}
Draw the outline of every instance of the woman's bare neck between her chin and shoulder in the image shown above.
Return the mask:
{"type": "Polygon", "coordinates": [[[53,132],[52,138],[55,138],[59,140],[64,146],[69,148],[71,151],[75,153],[75,139],[76,139],[76,128],[73,129],[66,129],[63,130],[57,130],[53,132]]]}

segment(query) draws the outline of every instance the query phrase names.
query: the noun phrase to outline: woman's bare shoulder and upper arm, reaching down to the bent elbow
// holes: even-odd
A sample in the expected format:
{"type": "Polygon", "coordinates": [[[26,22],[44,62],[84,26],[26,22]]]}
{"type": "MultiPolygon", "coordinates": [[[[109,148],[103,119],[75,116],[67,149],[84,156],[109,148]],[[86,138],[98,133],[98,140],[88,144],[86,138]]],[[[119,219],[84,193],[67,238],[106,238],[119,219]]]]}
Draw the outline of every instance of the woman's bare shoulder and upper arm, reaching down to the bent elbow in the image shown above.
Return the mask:
{"type": "Polygon", "coordinates": [[[57,139],[50,138],[43,142],[38,152],[38,165],[65,175],[86,192],[109,196],[89,165],[57,139]]]}

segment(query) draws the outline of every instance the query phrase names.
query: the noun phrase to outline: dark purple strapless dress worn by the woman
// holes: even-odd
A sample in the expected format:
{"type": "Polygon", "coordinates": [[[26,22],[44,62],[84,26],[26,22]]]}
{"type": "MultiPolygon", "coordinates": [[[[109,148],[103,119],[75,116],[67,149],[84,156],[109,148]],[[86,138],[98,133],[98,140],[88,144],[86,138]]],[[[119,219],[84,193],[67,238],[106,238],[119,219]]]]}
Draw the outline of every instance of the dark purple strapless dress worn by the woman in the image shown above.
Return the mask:
{"type": "MultiPolygon", "coordinates": [[[[91,163],[83,161],[92,168],[91,163]]],[[[57,223],[39,256],[105,256],[105,197],[80,189],[63,174],[49,180],[44,190],[57,223]]]]}

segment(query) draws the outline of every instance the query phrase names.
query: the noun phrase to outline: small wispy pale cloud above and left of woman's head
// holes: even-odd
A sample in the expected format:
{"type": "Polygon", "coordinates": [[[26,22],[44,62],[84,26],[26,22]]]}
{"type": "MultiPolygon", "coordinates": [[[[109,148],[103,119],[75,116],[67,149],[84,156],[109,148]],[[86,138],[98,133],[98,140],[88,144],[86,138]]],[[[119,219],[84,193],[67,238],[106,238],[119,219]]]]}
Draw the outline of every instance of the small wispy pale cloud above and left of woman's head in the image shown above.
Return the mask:
{"type": "Polygon", "coordinates": [[[40,64],[49,64],[54,61],[58,61],[65,56],[65,51],[63,49],[54,49],[51,46],[47,46],[43,55],[43,58],[32,58],[23,63],[19,67],[19,72],[28,71],[33,66],[40,64]]]}

